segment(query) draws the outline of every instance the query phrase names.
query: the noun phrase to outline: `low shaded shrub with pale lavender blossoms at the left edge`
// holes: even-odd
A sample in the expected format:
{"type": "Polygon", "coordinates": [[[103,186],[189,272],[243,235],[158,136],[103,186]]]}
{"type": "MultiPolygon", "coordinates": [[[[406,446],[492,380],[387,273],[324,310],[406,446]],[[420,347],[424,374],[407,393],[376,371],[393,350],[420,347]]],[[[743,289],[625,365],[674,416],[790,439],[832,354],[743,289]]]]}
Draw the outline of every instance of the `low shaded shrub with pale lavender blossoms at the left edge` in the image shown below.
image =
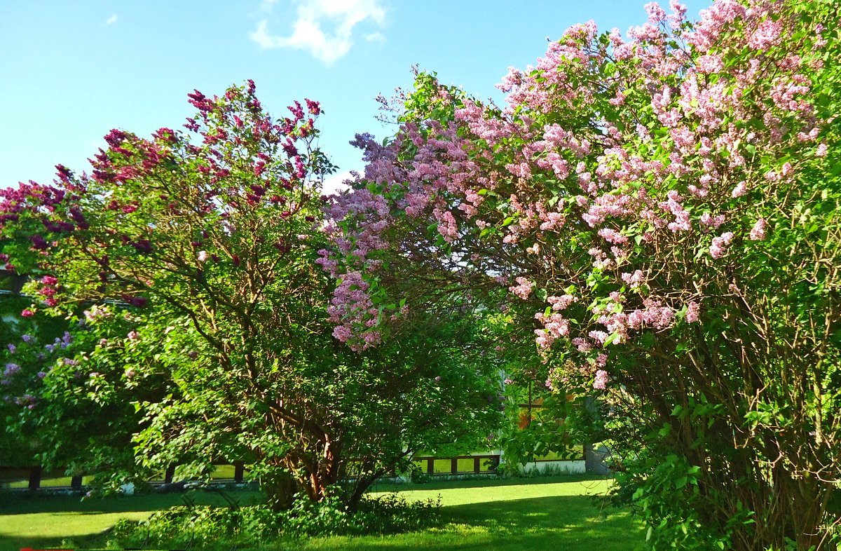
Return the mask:
{"type": "Polygon", "coordinates": [[[172,388],[163,370],[141,376],[135,368],[143,360],[127,335],[140,317],[91,306],[66,320],[34,313],[26,296],[6,296],[0,306],[8,324],[0,352],[0,464],[95,474],[102,485],[119,486],[134,471],[135,403],[161,400],[172,388]]]}

